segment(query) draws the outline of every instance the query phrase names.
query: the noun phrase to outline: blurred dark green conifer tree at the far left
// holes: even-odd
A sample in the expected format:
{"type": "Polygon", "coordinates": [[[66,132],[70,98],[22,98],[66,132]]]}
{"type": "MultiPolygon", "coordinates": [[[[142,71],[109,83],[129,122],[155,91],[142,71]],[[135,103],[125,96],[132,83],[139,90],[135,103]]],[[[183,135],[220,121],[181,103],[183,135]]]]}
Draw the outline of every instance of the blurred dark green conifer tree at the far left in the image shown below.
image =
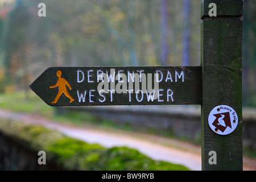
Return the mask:
{"type": "Polygon", "coordinates": [[[3,32],[5,85],[27,89],[26,32],[30,14],[23,0],[17,0],[7,16],[3,32]]]}

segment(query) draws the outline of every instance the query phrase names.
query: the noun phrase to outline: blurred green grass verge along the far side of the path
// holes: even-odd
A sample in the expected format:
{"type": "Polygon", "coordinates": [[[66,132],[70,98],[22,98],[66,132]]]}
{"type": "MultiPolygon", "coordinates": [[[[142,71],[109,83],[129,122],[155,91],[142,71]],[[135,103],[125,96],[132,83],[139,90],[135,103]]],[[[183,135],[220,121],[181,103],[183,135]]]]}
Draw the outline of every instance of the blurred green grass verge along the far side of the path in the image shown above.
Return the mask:
{"type": "Polygon", "coordinates": [[[128,125],[118,126],[109,119],[100,119],[87,112],[71,111],[65,114],[58,114],[56,107],[47,105],[31,90],[28,90],[27,93],[24,91],[0,93],[0,108],[15,112],[38,114],[47,119],[61,123],[72,123],[72,125],[77,126],[88,126],[89,124],[91,127],[100,126],[126,131],[132,130],[128,125]]]}

